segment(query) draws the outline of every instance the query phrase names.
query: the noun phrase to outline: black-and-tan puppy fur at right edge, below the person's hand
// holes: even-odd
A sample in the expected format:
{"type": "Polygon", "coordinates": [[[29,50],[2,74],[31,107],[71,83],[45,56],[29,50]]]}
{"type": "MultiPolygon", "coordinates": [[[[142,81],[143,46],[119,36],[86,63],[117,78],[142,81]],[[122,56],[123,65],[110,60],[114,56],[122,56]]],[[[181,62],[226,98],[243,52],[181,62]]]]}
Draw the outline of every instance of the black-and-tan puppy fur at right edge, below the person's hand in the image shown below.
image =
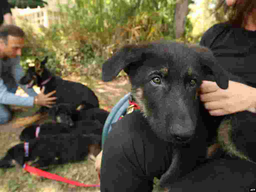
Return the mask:
{"type": "Polygon", "coordinates": [[[232,157],[256,163],[256,114],[242,111],[227,115],[218,127],[218,142],[232,157]]]}

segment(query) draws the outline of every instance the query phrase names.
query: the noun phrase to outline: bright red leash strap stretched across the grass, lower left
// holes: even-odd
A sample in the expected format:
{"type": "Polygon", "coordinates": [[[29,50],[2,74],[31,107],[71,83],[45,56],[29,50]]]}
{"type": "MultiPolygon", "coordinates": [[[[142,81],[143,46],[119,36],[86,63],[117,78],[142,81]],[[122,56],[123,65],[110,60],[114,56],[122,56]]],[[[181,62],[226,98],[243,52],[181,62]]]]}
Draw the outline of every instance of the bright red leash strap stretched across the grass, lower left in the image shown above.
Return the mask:
{"type": "Polygon", "coordinates": [[[72,180],[69,180],[65,177],[61,177],[59,175],[43,171],[43,170],[35,168],[35,167],[31,167],[28,164],[24,164],[23,168],[27,172],[34,173],[38,176],[45,177],[45,178],[52,179],[52,180],[56,180],[56,181],[61,181],[61,182],[64,182],[64,183],[69,183],[71,185],[76,185],[76,186],[80,186],[80,187],[100,187],[100,185],[86,185],[86,184],[83,184],[83,183],[79,183],[77,181],[72,181],[72,180]]]}

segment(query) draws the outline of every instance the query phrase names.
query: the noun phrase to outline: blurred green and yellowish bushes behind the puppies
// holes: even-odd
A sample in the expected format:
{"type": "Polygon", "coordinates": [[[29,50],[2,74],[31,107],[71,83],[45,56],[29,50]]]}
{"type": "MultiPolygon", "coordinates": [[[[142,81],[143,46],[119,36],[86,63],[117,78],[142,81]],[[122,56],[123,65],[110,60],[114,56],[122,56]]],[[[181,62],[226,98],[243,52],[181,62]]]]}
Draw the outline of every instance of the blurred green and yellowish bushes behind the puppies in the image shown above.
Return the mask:
{"type": "MultiPolygon", "coordinates": [[[[50,28],[23,23],[22,65],[48,56],[47,67],[66,76],[99,76],[104,60],[127,43],[174,39],[175,0],[74,0],[59,5],[62,22],[50,28]],[[90,70],[85,70],[88,68],[90,70]],[[89,72],[88,72],[89,71],[89,72]]],[[[192,26],[187,20],[185,38],[192,26]]]]}

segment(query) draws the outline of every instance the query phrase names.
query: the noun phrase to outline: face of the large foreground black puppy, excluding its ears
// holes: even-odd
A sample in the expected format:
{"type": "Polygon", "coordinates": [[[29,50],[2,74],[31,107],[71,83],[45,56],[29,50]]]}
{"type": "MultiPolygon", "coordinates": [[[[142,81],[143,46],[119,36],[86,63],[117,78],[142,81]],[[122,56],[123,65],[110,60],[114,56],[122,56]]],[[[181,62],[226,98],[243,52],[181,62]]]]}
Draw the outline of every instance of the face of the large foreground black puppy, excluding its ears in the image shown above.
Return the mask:
{"type": "Polygon", "coordinates": [[[193,52],[145,55],[129,69],[132,96],[158,137],[187,142],[195,132],[203,71],[193,52]]]}

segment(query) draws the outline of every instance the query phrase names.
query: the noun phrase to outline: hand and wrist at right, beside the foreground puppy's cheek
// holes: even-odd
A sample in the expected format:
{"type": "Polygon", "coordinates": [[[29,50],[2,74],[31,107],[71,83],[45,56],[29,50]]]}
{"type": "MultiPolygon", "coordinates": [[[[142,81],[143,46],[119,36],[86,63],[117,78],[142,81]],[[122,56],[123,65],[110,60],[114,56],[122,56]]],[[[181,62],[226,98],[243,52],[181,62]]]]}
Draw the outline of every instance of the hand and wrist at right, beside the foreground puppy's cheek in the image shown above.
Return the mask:
{"type": "Polygon", "coordinates": [[[235,81],[229,81],[228,89],[219,88],[216,82],[203,81],[200,99],[213,116],[245,110],[256,113],[256,89],[235,81]]]}

